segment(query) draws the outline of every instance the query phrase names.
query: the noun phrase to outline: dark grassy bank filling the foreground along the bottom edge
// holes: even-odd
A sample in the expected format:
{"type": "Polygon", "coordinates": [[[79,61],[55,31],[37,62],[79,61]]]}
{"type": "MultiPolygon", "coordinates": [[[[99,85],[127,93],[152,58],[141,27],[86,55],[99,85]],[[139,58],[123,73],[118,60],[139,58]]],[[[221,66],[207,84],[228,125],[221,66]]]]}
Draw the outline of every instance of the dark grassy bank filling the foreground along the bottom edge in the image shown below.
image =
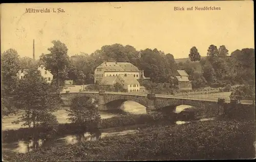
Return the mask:
{"type": "Polygon", "coordinates": [[[39,148],[8,161],[103,161],[254,158],[255,122],[204,121],[151,126],[136,134],[39,148]]]}

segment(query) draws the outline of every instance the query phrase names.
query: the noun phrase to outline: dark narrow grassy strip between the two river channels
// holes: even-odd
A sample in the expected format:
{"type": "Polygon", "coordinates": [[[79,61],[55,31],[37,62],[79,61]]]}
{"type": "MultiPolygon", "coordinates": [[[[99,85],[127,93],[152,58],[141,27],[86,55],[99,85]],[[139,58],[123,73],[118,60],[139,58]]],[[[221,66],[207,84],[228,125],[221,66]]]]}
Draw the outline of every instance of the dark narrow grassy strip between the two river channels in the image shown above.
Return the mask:
{"type": "MultiPolygon", "coordinates": [[[[170,117],[172,119],[172,117],[170,117]]],[[[101,119],[101,124],[99,129],[113,128],[113,127],[122,127],[130,126],[137,124],[159,124],[159,123],[169,123],[175,122],[173,120],[166,119],[165,116],[160,114],[149,115],[149,114],[126,114],[119,115],[116,117],[101,119]]],[[[58,124],[55,130],[51,128],[19,128],[2,131],[2,140],[5,143],[19,141],[19,140],[32,140],[33,138],[38,139],[54,139],[58,136],[65,136],[67,134],[81,133],[89,131],[82,127],[79,127],[72,123],[58,124]]]]}

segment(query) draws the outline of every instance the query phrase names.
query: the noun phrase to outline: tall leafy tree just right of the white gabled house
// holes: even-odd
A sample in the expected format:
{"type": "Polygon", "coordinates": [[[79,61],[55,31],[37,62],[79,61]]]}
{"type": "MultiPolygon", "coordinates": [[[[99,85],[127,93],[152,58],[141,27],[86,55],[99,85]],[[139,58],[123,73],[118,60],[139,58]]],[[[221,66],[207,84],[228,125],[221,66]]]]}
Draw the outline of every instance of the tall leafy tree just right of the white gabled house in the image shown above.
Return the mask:
{"type": "Polygon", "coordinates": [[[67,46],[60,41],[52,41],[53,47],[48,48],[50,51],[47,55],[42,55],[40,60],[45,63],[47,69],[50,69],[57,81],[57,87],[64,84],[67,79],[70,64],[67,46]]]}

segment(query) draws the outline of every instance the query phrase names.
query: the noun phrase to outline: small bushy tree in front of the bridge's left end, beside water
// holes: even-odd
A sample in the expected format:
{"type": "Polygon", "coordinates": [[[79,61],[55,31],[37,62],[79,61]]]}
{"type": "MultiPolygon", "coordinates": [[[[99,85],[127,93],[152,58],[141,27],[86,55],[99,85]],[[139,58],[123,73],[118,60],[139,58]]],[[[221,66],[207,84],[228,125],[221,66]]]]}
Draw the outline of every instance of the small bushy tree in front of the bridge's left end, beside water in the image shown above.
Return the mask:
{"type": "Polygon", "coordinates": [[[100,115],[91,98],[76,96],[71,100],[71,108],[67,110],[69,121],[84,130],[96,129],[100,126],[100,115]]]}

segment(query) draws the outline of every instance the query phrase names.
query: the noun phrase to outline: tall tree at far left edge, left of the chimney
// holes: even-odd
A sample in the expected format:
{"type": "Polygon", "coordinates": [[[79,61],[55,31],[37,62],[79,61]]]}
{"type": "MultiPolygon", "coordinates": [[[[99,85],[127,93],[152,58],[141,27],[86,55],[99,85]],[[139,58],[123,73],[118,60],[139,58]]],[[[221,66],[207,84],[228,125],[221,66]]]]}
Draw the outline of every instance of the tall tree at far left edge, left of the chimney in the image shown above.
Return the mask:
{"type": "Polygon", "coordinates": [[[19,56],[15,49],[8,49],[1,55],[1,83],[5,87],[2,95],[13,95],[17,72],[20,69],[19,56]]]}

